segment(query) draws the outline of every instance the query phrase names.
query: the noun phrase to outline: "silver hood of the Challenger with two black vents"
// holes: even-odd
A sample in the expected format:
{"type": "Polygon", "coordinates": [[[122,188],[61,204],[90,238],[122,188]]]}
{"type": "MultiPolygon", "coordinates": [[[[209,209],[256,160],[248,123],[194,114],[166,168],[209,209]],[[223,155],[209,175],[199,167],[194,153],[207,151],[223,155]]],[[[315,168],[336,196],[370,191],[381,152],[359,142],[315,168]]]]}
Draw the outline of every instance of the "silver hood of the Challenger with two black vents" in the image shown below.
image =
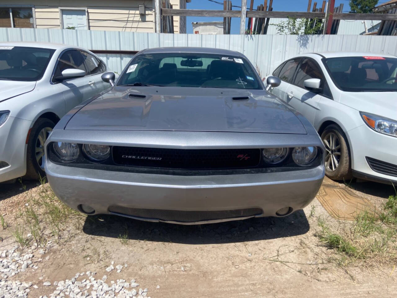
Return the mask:
{"type": "Polygon", "coordinates": [[[114,87],[65,129],[306,134],[297,116],[264,90],[185,87],[114,87]]]}

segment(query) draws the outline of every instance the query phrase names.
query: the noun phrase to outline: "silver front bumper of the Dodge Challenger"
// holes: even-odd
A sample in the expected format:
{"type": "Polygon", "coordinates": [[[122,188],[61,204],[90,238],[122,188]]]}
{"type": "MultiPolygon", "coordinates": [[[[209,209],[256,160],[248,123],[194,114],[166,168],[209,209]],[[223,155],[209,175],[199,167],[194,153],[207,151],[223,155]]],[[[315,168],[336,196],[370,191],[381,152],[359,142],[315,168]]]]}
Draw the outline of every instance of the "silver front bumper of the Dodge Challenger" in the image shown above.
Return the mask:
{"type": "MultiPolygon", "coordinates": [[[[212,223],[249,217],[277,216],[276,211],[303,209],[314,199],[324,178],[324,166],[266,174],[172,176],[111,172],[63,166],[46,160],[52,190],[64,203],[95,214],[117,214],[145,221],[179,224],[212,223]],[[110,207],[173,211],[230,211],[260,208],[250,216],[204,221],[178,221],[113,213],[110,207]]],[[[161,217],[161,216],[160,216],[161,217]]]]}

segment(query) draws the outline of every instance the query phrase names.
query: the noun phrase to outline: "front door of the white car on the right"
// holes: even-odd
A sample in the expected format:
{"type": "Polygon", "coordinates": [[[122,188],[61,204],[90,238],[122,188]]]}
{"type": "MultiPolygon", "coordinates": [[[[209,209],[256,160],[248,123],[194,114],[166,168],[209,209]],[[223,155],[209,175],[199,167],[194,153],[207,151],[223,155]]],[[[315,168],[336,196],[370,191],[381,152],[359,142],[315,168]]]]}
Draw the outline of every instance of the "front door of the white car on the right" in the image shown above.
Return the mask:
{"type": "Polygon", "coordinates": [[[303,58],[298,66],[293,83],[285,91],[285,101],[301,112],[313,124],[316,111],[318,110],[318,102],[323,94],[330,96],[322,71],[314,60],[303,58]],[[304,81],[306,79],[320,79],[319,91],[312,92],[305,89],[304,81]]]}

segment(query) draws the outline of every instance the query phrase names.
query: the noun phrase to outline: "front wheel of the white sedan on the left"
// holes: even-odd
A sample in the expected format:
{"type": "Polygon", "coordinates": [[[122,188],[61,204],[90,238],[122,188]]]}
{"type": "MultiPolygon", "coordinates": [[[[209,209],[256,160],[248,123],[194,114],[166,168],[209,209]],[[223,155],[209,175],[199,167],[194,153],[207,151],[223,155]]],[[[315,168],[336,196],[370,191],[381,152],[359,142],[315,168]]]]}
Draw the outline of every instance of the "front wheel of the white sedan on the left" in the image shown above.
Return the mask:
{"type": "Polygon", "coordinates": [[[54,126],[54,122],[45,118],[39,118],[33,125],[27,143],[25,179],[38,180],[45,176],[44,143],[54,126]]]}

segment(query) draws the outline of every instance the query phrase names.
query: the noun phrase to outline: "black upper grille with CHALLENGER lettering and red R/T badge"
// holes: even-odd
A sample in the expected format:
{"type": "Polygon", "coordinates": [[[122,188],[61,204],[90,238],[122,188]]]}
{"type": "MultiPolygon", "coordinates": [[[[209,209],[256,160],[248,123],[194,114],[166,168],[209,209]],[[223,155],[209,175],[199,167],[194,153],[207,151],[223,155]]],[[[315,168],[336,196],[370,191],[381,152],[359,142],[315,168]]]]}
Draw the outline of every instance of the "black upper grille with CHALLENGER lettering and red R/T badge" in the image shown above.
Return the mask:
{"type": "Polygon", "coordinates": [[[260,163],[260,149],[163,149],[113,147],[113,159],[123,166],[172,169],[254,168],[260,163]]]}

